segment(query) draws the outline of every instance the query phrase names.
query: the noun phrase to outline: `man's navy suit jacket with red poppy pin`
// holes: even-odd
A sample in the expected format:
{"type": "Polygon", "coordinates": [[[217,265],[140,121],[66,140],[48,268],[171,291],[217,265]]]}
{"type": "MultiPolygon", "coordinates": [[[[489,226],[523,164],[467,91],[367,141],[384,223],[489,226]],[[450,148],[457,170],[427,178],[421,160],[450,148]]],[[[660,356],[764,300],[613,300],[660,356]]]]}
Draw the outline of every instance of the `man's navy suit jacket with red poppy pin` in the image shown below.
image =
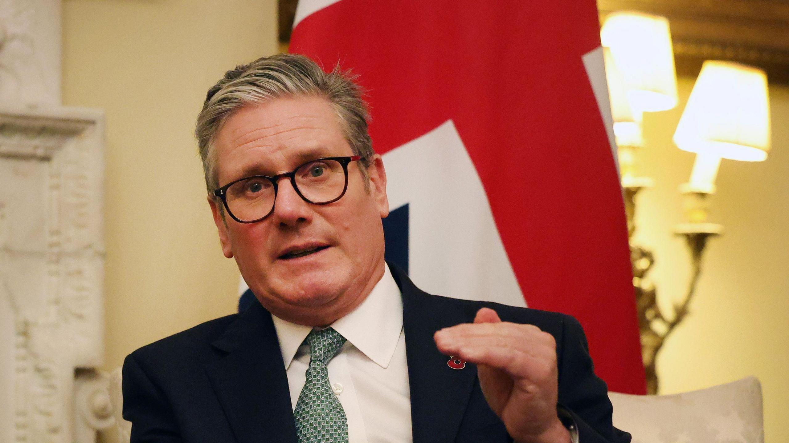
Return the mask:
{"type": "MultiPolygon", "coordinates": [[[[432,296],[390,267],[402,292],[414,443],[512,441],[484,400],[477,367],[452,369],[433,341],[438,329],[473,322],[480,307],[555,337],[559,404],[570,411],[581,443],[630,441],[630,434],[611,425],[606,385],[593,372],[574,318],[432,296]]],[[[279,341],[260,303],[133,352],[123,364],[123,398],[132,443],[297,443],[279,341]]]]}

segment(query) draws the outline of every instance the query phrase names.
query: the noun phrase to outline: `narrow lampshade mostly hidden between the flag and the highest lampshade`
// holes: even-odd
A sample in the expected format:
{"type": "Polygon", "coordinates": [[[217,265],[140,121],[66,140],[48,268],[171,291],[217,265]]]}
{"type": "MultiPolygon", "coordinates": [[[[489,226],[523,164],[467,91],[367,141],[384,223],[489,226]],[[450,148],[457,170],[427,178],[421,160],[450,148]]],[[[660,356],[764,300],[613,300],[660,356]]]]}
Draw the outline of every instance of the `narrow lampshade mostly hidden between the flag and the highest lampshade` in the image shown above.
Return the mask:
{"type": "Polygon", "coordinates": [[[634,111],[627,99],[625,80],[614,58],[611,49],[603,48],[605,76],[608,81],[608,99],[611,102],[611,117],[614,120],[614,136],[616,145],[641,147],[644,140],[641,136],[641,111],[634,111]]]}

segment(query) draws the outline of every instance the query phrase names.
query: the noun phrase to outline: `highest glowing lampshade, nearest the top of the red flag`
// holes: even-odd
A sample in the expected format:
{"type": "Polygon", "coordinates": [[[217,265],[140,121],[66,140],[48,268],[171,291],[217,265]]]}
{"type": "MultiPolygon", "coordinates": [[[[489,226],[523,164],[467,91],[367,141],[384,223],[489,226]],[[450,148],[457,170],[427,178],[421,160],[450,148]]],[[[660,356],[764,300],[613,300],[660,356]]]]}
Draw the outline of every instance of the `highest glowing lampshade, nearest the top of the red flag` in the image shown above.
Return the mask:
{"type": "Polygon", "coordinates": [[[671,32],[665,17],[611,13],[600,31],[604,47],[622,72],[630,105],[640,111],[677,105],[677,77],[671,32]]]}

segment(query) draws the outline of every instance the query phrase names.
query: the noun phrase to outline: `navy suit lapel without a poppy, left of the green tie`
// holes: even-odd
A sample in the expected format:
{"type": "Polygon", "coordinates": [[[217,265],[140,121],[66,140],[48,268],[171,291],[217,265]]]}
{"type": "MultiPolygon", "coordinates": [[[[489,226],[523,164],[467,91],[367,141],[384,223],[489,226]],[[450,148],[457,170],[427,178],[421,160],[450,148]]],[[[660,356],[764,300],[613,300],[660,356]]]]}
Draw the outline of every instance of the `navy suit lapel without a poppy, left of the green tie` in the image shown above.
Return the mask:
{"type": "Polygon", "coordinates": [[[205,370],[238,443],[295,443],[285,363],[271,315],[252,303],[213,345],[228,354],[205,370]]]}

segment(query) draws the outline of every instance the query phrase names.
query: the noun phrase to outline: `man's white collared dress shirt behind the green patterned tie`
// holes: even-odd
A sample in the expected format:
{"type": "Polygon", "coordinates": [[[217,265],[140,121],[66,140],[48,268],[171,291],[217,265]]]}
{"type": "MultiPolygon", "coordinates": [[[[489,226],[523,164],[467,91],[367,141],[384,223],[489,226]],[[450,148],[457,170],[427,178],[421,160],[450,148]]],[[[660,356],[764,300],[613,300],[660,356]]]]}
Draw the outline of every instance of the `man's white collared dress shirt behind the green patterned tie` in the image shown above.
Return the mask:
{"type": "MultiPolygon", "coordinates": [[[[302,342],[312,328],[271,318],[285,362],[290,404],[296,408],[309,366],[309,346],[302,342]]],[[[331,327],[347,340],[328,370],[348,419],[349,443],[411,443],[402,298],[388,265],[367,299],[331,327]]]]}

